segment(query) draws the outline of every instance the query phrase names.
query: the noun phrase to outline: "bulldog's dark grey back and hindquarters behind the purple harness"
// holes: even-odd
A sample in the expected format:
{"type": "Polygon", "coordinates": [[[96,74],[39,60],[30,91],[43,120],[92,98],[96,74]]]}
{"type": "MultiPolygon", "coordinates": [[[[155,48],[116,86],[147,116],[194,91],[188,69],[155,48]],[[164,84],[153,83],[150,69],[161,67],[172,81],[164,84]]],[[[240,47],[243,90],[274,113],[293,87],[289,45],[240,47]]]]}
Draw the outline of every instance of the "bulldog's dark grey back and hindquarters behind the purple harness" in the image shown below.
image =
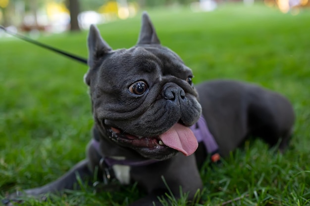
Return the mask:
{"type": "Polygon", "coordinates": [[[294,111],[282,95],[255,84],[230,80],[196,86],[208,128],[221,155],[228,155],[248,136],[257,136],[274,146],[281,139],[283,151],[294,124],[294,111]]]}

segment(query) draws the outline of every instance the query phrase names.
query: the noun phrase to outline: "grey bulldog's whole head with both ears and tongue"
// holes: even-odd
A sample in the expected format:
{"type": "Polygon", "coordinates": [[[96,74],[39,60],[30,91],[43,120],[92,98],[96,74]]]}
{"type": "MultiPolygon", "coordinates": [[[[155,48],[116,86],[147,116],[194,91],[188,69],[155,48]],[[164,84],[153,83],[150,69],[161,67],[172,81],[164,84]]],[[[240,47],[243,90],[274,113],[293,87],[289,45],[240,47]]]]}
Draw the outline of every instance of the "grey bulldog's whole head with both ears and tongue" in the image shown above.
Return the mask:
{"type": "Polygon", "coordinates": [[[147,13],[137,45],[112,50],[98,29],[88,37],[90,86],[95,123],[103,134],[146,158],[190,155],[198,143],[189,126],[201,115],[193,73],[160,45],[147,13]]]}

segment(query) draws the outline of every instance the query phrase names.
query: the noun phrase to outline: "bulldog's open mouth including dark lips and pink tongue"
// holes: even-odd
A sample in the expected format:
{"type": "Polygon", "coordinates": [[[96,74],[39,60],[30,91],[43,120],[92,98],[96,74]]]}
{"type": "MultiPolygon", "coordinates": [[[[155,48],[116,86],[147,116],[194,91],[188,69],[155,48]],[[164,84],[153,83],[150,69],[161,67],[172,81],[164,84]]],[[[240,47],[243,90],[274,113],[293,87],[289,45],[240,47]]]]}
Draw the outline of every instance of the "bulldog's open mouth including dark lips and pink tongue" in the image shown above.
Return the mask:
{"type": "Polygon", "coordinates": [[[180,123],[174,124],[164,133],[154,137],[137,137],[116,127],[106,129],[110,139],[122,145],[130,145],[133,148],[160,150],[169,147],[185,156],[193,154],[198,148],[198,142],[192,130],[180,123]]]}

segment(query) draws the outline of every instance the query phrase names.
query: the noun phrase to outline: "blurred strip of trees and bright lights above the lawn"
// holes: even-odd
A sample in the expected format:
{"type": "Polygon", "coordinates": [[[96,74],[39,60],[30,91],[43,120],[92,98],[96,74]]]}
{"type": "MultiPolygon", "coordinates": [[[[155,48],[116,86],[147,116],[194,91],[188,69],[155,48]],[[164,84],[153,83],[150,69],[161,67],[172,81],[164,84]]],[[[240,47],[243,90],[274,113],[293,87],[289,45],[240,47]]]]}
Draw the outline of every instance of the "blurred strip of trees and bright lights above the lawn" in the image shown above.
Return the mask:
{"type": "Polygon", "coordinates": [[[131,18],[152,7],[190,7],[197,12],[233,2],[248,6],[261,2],[295,15],[301,7],[310,6],[309,0],[0,0],[0,24],[13,31],[61,33],[131,18]]]}

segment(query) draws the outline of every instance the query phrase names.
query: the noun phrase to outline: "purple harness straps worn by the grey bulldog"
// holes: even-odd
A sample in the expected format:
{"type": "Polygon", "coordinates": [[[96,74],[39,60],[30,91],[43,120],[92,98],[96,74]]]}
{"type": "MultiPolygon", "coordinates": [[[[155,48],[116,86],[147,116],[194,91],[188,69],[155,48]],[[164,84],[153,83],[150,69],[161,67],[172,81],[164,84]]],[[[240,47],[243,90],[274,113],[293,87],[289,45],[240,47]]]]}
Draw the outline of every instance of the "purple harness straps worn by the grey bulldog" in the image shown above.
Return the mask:
{"type": "MultiPolygon", "coordinates": [[[[198,122],[190,127],[198,142],[203,142],[208,154],[210,155],[211,162],[218,162],[220,156],[218,154],[218,145],[207,128],[207,122],[203,116],[200,116],[198,122]]],[[[95,147],[98,153],[100,153],[99,141],[92,139],[92,146],[95,147]]],[[[143,161],[133,161],[133,160],[116,160],[110,157],[104,157],[103,162],[106,166],[112,167],[113,165],[128,165],[128,166],[143,166],[150,165],[152,163],[158,162],[157,160],[149,159],[143,161]]]]}

